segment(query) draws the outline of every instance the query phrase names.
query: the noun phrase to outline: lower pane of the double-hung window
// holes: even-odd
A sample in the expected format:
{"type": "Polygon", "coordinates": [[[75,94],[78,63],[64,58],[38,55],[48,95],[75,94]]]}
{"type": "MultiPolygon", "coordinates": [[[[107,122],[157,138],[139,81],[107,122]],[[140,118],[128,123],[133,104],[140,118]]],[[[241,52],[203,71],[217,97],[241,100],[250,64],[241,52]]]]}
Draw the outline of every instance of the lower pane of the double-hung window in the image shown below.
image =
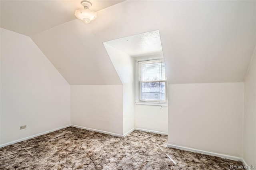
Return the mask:
{"type": "Polygon", "coordinates": [[[140,100],[166,101],[165,82],[141,83],[140,100]]]}

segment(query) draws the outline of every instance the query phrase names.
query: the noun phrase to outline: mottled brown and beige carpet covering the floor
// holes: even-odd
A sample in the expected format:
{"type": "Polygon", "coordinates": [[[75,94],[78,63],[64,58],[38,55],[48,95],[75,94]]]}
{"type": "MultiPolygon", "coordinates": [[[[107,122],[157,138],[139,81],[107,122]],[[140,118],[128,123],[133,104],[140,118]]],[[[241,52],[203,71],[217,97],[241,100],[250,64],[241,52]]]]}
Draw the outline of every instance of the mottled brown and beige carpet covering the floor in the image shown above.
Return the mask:
{"type": "Polygon", "coordinates": [[[166,143],[166,135],[137,130],[120,138],[68,127],[0,148],[0,169],[228,170],[230,165],[242,165],[168,148],[166,143]]]}

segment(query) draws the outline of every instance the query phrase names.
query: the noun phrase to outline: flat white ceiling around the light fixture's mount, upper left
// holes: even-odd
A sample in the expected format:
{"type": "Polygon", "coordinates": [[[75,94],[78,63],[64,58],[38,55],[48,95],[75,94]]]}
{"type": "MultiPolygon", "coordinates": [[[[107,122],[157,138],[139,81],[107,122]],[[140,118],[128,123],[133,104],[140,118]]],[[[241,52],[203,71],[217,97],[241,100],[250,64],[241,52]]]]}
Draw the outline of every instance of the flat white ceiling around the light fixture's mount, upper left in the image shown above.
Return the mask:
{"type": "MultiPolygon", "coordinates": [[[[76,19],[82,0],[0,0],[1,27],[32,36],[76,19]]],[[[99,11],[124,0],[90,0],[91,10],[99,11]]]]}

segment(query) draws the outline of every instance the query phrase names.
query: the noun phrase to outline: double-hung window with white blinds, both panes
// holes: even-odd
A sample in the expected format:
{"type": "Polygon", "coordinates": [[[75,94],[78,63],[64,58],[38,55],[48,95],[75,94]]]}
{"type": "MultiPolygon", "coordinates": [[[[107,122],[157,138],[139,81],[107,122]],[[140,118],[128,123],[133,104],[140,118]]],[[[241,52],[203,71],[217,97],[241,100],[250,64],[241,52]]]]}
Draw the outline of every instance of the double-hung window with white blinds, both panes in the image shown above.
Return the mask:
{"type": "Polygon", "coordinates": [[[167,102],[164,59],[139,61],[139,101],[167,102]]]}

